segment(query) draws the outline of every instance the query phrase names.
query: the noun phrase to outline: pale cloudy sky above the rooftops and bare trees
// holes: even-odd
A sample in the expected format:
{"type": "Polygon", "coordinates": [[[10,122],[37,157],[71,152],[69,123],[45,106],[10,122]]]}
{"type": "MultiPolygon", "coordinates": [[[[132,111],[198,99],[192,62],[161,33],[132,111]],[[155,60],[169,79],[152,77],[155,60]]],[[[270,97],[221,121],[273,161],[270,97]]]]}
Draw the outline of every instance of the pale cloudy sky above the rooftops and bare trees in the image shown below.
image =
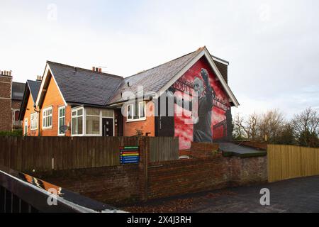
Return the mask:
{"type": "Polygon", "coordinates": [[[0,69],[47,60],[128,77],[206,45],[230,62],[233,114],[319,111],[319,1],[0,0],[0,69]]]}

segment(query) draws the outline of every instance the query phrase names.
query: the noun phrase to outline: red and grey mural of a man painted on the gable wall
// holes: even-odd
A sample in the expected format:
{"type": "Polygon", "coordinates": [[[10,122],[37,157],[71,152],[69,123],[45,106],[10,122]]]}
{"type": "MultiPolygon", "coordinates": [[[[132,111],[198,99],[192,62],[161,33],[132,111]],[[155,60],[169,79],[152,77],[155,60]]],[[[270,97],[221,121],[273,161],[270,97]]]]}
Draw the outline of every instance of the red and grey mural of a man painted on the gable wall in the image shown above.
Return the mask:
{"type": "Polygon", "coordinates": [[[212,143],[227,137],[230,103],[205,58],[196,62],[169,91],[177,97],[174,133],[179,137],[180,149],[189,149],[191,141],[212,143]],[[193,96],[198,100],[195,103],[193,96]]]}

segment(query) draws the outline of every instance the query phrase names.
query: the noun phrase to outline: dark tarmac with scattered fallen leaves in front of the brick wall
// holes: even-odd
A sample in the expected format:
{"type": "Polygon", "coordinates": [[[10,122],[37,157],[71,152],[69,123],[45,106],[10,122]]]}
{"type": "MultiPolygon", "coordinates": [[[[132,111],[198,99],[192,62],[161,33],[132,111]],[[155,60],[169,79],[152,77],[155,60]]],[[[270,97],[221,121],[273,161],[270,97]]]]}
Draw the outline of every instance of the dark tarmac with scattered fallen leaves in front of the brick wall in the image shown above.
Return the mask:
{"type": "Polygon", "coordinates": [[[138,213],[318,213],[319,176],[174,196],[121,209],[138,213]],[[260,204],[264,188],[270,192],[269,206],[260,204]]]}

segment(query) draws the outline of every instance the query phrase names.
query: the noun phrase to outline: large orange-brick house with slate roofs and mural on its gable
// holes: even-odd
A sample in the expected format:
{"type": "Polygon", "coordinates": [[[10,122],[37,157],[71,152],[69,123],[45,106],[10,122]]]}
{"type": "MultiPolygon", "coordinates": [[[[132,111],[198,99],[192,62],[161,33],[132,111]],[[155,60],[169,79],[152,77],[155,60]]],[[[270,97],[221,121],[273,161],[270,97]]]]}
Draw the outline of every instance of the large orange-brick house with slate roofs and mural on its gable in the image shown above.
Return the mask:
{"type": "Polygon", "coordinates": [[[35,101],[38,131],[177,136],[181,149],[191,141],[229,140],[230,109],[239,103],[228,86],[228,65],[206,47],[126,78],[48,61],[35,101]]]}

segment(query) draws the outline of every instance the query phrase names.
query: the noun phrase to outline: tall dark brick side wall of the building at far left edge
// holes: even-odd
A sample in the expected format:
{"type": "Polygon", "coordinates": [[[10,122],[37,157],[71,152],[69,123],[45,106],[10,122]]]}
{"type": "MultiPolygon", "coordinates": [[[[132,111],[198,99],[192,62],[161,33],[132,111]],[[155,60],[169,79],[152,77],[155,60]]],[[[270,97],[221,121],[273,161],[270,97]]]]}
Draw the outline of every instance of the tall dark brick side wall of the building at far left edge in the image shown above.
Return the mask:
{"type": "Polygon", "coordinates": [[[0,75],[0,131],[11,131],[11,86],[12,77],[0,75]]]}

